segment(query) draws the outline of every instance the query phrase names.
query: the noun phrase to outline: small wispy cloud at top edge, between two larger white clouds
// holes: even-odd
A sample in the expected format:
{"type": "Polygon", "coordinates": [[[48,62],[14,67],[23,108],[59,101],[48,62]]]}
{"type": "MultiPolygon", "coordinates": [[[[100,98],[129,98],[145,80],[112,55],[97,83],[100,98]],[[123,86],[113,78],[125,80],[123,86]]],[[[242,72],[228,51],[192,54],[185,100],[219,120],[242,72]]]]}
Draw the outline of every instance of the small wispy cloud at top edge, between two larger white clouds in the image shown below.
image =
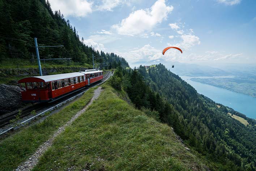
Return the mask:
{"type": "Polygon", "coordinates": [[[116,8],[120,5],[127,4],[129,5],[128,0],[102,0],[101,5],[96,6],[97,10],[107,10],[107,11],[113,11],[113,8],[116,8]]]}

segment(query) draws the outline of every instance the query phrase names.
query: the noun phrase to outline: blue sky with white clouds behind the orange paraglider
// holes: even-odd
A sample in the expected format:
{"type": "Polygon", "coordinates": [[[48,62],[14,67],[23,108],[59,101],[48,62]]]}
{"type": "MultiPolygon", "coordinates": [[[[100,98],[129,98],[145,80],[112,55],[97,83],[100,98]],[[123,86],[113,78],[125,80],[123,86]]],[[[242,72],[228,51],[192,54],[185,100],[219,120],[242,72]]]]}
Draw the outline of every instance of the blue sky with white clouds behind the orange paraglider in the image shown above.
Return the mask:
{"type": "Polygon", "coordinates": [[[50,0],[85,44],[134,67],[256,64],[256,0],[50,0]],[[178,46],[162,55],[163,48],[178,46]]]}

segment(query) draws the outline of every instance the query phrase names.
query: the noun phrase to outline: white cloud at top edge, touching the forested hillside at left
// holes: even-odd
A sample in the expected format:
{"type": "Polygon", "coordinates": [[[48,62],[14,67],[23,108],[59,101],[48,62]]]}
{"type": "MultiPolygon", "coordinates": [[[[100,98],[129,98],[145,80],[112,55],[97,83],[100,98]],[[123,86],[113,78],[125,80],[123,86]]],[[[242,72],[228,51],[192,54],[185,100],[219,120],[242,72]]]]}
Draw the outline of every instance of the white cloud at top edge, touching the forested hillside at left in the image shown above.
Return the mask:
{"type": "Polygon", "coordinates": [[[85,17],[92,12],[87,0],[50,0],[52,10],[60,10],[64,16],[85,17]]]}

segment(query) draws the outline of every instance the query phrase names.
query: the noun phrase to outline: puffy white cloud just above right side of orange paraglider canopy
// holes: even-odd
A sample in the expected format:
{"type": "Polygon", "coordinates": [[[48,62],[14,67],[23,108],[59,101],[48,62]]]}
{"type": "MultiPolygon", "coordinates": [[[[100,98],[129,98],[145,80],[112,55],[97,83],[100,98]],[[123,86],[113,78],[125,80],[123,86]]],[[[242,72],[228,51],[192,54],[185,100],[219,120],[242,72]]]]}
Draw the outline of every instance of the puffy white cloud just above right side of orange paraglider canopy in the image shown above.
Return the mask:
{"type": "MultiPolygon", "coordinates": [[[[185,50],[190,50],[191,47],[201,43],[199,40],[199,37],[197,37],[195,35],[184,34],[184,35],[181,35],[181,38],[182,38],[182,42],[175,44],[173,46],[180,47],[185,50]]],[[[169,43],[168,43],[168,45],[172,46],[169,43]]]]}

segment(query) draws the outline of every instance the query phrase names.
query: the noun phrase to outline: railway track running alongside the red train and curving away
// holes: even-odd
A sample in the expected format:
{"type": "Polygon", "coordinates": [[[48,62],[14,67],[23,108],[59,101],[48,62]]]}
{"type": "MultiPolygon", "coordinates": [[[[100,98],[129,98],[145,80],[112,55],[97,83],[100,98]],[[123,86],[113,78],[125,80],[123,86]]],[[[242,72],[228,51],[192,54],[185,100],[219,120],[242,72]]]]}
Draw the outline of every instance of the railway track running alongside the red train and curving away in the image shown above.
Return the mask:
{"type": "MultiPolygon", "coordinates": [[[[82,88],[82,89],[80,89],[80,90],[78,90],[78,91],[76,91],[76,92],[74,92],[74,93],[72,93],[72,94],[66,95],[65,97],[62,97],[62,98],[60,98],[60,99],[57,99],[57,100],[54,101],[54,102],[51,102],[51,103],[37,103],[37,104],[35,104],[35,105],[32,106],[32,107],[25,108],[25,110],[23,110],[23,111],[21,111],[21,112],[15,112],[15,113],[13,113],[13,114],[10,114],[10,115],[8,115],[8,116],[5,116],[5,117],[1,118],[1,120],[0,120],[0,128],[1,128],[1,127],[4,127],[4,126],[7,125],[7,124],[9,124],[10,121],[13,120],[13,119],[17,119],[17,118],[18,118],[18,119],[21,119],[21,118],[23,118],[23,117],[25,117],[25,116],[30,115],[32,111],[35,111],[35,113],[37,113],[38,111],[40,111],[40,110],[42,110],[42,109],[44,109],[44,108],[49,108],[49,107],[50,107],[50,108],[54,107],[54,109],[55,109],[55,108],[61,106],[61,105],[58,105],[58,104],[56,105],[56,103],[65,104],[65,103],[67,103],[67,102],[65,102],[65,101],[68,101],[68,100],[70,100],[70,99],[73,100],[74,98],[76,98],[76,97],[78,97],[78,96],[84,94],[85,91],[87,91],[90,87],[92,87],[92,86],[94,87],[94,86],[97,86],[98,84],[101,84],[102,82],[106,81],[110,76],[111,76],[111,72],[108,71],[108,72],[103,76],[103,79],[102,79],[101,81],[96,82],[95,84],[92,84],[92,85],[90,85],[90,86],[84,87],[84,88],[82,88]],[[72,97],[72,96],[73,96],[73,97],[72,97]]],[[[1,134],[1,133],[0,133],[0,134],[1,134]]]]}

